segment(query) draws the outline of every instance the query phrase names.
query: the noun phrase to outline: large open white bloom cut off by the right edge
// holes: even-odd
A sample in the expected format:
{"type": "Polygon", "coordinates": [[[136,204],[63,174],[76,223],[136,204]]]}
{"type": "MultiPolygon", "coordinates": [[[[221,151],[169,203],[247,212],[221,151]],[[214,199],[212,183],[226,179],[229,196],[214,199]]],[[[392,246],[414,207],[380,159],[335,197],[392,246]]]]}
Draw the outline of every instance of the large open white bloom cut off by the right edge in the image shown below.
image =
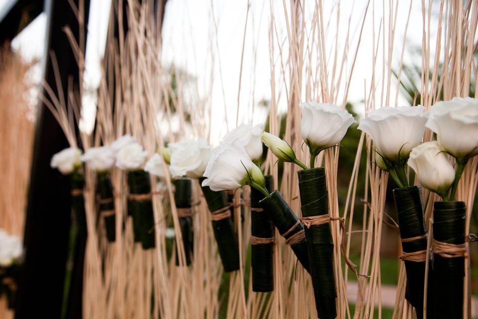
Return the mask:
{"type": "Polygon", "coordinates": [[[478,154],[478,99],[453,98],[432,106],[425,126],[438,144],[459,160],[478,154]]]}

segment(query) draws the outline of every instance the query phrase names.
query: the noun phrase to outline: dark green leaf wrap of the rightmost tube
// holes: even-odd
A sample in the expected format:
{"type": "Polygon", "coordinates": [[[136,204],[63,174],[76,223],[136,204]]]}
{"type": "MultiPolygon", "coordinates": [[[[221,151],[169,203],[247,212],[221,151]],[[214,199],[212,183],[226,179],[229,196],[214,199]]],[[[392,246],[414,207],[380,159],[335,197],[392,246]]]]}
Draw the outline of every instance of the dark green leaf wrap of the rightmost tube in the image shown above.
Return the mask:
{"type": "MultiPolygon", "coordinates": [[[[437,201],[433,210],[433,238],[449,244],[465,243],[465,202],[437,201]]],[[[435,318],[463,318],[465,258],[433,255],[433,311],[435,318]]]]}

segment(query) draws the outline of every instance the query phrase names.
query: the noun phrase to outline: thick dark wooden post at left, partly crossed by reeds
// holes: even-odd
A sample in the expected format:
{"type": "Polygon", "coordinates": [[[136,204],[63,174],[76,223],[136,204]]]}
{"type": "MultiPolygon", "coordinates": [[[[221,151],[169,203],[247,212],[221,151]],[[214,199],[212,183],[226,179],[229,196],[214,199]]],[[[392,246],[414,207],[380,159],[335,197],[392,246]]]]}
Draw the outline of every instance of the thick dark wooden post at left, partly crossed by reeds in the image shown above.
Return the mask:
{"type": "MultiPolygon", "coordinates": [[[[73,0],[78,6],[79,0],[73,0]]],[[[84,0],[88,21],[90,0],[84,0]]],[[[45,0],[47,19],[47,52],[54,51],[58,60],[64,95],[68,78],[78,86],[78,65],[63,31],[69,25],[79,35],[78,20],[67,0],[45,0]]],[[[85,22],[86,24],[86,22],[85,22]]],[[[86,33],[85,33],[86,36],[86,33]]],[[[57,92],[55,76],[48,55],[45,81],[57,92]]],[[[50,167],[51,157],[69,145],[60,126],[48,109],[40,104],[37,113],[31,167],[28,207],[25,224],[25,263],[19,283],[15,317],[60,318],[63,297],[65,261],[70,229],[71,197],[68,178],[50,167]]],[[[83,239],[84,240],[84,239],[83,239]]],[[[81,318],[81,284],[83,269],[75,270],[68,318],[81,318]],[[79,285],[79,287],[78,287],[79,285]]]]}

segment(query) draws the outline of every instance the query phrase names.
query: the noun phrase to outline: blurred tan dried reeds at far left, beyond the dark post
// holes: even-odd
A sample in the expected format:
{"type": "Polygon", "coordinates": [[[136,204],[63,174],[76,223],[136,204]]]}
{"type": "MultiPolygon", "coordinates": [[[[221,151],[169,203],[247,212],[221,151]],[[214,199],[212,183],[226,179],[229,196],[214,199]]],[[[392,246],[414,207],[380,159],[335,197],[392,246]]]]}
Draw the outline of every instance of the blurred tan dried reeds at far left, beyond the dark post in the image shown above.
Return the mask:
{"type": "MultiPolygon", "coordinates": [[[[8,49],[0,48],[0,228],[22,238],[33,149],[34,110],[26,99],[31,89],[27,78],[30,66],[8,49]]],[[[2,318],[13,318],[5,298],[0,299],[0,314],[4,315],[2,318]]]]}

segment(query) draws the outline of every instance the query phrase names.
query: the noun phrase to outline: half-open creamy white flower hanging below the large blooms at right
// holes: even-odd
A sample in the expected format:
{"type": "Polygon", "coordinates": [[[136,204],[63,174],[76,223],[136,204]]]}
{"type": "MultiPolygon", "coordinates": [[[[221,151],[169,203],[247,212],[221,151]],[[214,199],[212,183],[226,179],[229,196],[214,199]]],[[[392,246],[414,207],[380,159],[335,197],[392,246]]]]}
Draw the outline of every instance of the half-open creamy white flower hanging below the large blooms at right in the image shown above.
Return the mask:
{"type": "Polygon", "coordinates": [[[446,194],[455,180],[455,169],[437,141],[415,147],[410,153],[408,165],[423,187],[440,195],[446,194]]]}

